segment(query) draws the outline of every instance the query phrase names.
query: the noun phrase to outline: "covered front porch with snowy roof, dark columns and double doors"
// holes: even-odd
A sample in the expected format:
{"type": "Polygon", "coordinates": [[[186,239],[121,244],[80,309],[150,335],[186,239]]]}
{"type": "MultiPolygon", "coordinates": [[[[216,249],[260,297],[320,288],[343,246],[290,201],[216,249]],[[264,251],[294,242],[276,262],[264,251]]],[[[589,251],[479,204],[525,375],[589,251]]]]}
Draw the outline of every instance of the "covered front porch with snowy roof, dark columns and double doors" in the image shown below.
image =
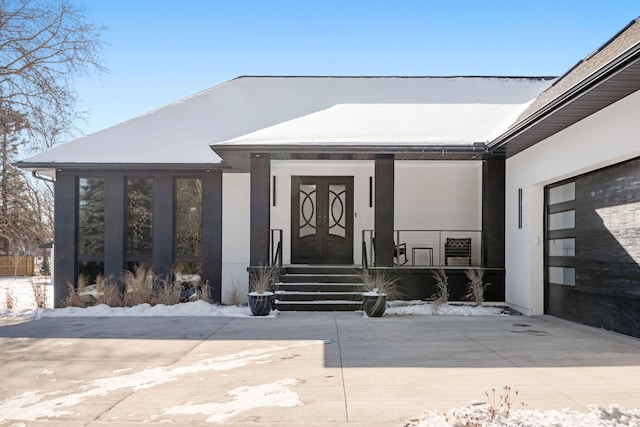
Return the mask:
{"type": "Polygon", "coordinates": [[[336,105],[212,145],[248,174],[249,267],[393,269],[421,299],[434,269],[491,269],[504,300],[505,163],[479,141],[505,108],[336,105]]]}

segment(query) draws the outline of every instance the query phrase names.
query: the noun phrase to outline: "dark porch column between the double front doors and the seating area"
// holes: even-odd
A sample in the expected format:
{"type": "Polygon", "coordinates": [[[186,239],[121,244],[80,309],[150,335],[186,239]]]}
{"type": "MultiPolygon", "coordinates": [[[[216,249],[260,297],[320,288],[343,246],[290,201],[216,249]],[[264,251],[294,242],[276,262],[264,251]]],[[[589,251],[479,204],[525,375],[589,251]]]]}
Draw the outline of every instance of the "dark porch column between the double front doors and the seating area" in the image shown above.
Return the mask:
{"type": "Polygon", "coordinates": [[[394,159],[378,154],[375,160],[375,264],[393,267],[394,159]]]}

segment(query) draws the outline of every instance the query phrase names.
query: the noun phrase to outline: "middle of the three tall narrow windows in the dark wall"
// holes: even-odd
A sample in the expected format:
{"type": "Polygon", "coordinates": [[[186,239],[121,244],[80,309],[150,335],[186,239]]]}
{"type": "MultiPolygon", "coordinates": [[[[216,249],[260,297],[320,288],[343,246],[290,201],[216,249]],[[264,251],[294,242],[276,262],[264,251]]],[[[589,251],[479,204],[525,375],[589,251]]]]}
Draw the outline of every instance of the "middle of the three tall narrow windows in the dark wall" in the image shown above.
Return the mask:
{"type": "Polygon", "coordinates": [[[127,179],[127,269],[153,263],[153,179],[127,179]]]}

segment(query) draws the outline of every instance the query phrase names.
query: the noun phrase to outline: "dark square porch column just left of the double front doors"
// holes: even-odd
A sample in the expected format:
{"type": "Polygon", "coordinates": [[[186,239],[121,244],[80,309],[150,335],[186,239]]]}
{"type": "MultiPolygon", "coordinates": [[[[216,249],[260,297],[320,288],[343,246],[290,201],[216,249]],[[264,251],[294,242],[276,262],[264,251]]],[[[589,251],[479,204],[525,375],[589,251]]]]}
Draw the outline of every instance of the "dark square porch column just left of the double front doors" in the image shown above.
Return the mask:
{"type": "Polygon", "coordinates": [[[269,264],[269,228],[271,226],[269,191],[271,160],[267,154],[251,154],[250,159],[251,220],[249,233],[249,263],[251,266],[269,264]]]}

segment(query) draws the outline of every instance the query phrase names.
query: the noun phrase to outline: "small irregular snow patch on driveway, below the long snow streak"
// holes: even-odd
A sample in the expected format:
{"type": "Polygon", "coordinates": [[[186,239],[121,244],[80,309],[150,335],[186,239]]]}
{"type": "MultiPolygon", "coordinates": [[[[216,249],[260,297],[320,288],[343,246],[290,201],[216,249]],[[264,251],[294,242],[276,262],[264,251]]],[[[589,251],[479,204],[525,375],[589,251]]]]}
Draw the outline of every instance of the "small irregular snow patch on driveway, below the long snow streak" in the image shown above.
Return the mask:
{"type": "Polygon", "coordinates": [[[243,386],[235,388],[227,393],[233,397],[230,402],[194,404],[173,406],[165,409],[167,415],[209,415],[208,423],[223,423],[229,418],[243,411],[255,408],[280,407],[293,408],[302,406],[298,394],[289,387],[299,384],[296,379],[280,380],[271,384],[258,386],[243,386]]]}

